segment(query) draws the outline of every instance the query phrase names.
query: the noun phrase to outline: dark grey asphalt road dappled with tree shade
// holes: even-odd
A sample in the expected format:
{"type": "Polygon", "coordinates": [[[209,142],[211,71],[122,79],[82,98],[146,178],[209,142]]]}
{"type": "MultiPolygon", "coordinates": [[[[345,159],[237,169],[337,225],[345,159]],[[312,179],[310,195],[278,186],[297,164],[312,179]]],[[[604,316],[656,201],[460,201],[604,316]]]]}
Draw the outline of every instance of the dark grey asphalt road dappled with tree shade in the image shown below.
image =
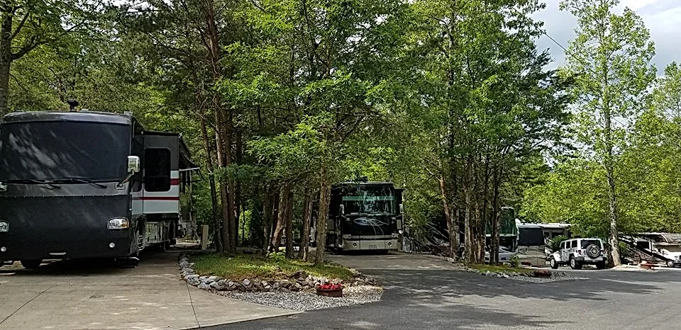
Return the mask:
{"type": "Polygon", "coordinates": [[[681,329],[679,271],[561,268],[587,279],[536,284],[454,271],[427,256],[409,256],[402,268],[385,257],[339,261],[380,278],[381,302],[210,329],[681,329]]]}

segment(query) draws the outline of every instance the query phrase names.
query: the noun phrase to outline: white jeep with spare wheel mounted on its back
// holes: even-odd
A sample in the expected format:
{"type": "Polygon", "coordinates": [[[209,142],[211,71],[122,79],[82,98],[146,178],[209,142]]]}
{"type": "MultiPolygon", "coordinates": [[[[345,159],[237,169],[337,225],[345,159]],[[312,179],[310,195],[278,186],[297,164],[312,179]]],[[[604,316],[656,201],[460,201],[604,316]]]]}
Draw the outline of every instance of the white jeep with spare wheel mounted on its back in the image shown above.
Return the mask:
{"type": "Polygon", "coordinates": [[[585,264],[603,269],[608,261],[601,239],[567,239],[560,243],[560,250],[549,256],[551,268],[568,264],[572,269],[582,269],[585,264]]]}

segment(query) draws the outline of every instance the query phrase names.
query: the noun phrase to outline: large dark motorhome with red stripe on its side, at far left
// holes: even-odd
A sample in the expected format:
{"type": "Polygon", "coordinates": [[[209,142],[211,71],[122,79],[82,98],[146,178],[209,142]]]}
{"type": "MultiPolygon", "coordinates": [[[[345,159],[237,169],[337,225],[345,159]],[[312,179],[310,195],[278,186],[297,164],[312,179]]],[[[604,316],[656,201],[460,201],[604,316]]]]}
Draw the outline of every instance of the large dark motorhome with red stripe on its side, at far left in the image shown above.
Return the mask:
{"type": "Polygon", "coordinates": [[[182,137],[132,115],[11,113],[0,123],[0,266],[43,259],[137,261],[175,244],[196,166],[182,137]]]}

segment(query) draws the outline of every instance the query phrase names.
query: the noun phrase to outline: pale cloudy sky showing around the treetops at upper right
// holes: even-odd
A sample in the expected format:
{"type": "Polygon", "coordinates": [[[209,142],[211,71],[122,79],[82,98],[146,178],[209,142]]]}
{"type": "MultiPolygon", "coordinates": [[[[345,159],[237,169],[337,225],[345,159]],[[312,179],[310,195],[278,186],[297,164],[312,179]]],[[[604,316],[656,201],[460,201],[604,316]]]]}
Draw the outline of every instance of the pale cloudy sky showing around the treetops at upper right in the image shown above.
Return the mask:
{"type": "MultiPolygon", "coordinates": [[[[535,18],[544,21],[546,33],[567,48],[567,42],[575,38],[575,18],[566,11],[558,10],[559,0],[546,0],[546,9],[536,13],[535,18]]],[[[681,62],[681,1],[680,0],[621,0],[621,8],[627,6],[636,11],[650,30],[655,42],[653,63],[658,74],[672,61],[681,62]]],[[[619,11],[621,13],[621,10],[619,11]]],[[[565,62],[563,50],[546,36],[537,41],[540,49],[549,49],[557,67],[565,62]]]]}

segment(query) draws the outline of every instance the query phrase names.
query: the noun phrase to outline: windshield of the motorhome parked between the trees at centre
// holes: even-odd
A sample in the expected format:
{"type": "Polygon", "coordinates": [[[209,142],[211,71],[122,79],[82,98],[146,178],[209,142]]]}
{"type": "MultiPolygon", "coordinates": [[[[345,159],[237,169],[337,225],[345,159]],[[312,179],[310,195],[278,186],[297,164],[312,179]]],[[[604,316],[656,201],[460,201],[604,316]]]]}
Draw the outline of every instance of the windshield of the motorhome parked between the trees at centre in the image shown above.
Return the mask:
{"type": "Polygon", "coordinates": [[[357,186],[343,191],[345,213],[387,213],[394,210],[394,191],[385,186],[357,186]]]}

